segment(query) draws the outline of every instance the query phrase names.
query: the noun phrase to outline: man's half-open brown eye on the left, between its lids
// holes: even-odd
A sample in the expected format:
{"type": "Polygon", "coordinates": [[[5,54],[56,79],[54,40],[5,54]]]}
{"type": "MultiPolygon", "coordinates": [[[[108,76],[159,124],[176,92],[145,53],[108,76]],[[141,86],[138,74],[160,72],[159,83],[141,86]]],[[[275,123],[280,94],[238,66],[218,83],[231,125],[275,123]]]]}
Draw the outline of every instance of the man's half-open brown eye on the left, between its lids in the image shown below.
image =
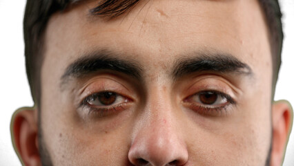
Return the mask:
{"type": "Polygon", "coordinates": [[[121,104],[128,100],[122,95],[111,91],[103,91],[90,95],[84,102],[93,107],[103,107],[115,104],[121,104]]]}

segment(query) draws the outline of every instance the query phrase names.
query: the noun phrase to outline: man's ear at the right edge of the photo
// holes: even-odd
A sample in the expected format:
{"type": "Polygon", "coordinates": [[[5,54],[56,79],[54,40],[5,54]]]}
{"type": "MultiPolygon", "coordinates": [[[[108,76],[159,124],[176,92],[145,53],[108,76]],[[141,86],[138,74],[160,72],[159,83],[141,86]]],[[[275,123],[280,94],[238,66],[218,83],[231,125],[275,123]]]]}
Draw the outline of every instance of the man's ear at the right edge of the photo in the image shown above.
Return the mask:
{"type": "Polygon", "coordinates": [[[293,123],[293,109],[286,100],[273,103],[273,149],[271,153],[271,165],[282,165],[288,137],[293,123]]]}

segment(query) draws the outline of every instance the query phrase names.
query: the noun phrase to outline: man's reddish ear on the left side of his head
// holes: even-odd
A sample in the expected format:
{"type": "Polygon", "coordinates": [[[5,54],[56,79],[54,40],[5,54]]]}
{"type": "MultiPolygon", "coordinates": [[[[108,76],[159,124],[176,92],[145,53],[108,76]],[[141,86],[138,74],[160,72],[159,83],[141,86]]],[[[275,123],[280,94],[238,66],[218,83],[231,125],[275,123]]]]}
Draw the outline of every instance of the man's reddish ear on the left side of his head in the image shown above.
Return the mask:
{"type": "Polygon", "coordinates": [[[21,108],[15,111],[10,129],[14,150],[22,165],[41,165],[37,134],[37,110],[21,108]]]}

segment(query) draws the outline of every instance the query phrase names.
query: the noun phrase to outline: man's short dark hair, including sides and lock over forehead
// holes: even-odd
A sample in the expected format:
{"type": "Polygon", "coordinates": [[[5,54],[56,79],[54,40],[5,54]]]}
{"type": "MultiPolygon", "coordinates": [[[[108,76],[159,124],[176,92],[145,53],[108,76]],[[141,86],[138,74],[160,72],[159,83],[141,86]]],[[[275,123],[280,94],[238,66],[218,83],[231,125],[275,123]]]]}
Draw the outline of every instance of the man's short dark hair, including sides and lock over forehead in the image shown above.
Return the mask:
{"type": "MultiPolygon", "coordinates": [[[[35,104],[40,104],[41,97],[41,66],[43,64],[43,38],[48,20],[55,12],[62,12],[69,6],[74,6],[83,0],[28,0],[23,19],[23,34],[25,41],[26,72],[35,104]]],[[[280,70],[282,52],[282,21],[281,11],[277,0],[258,0],[264,10],[268,24],[268,35],[271,44],[273,62],[273,92],[280,70]]],[[[132,9],[139,0],[102,0],[92,14],[107,19],[118,17],[132,9]]]]}

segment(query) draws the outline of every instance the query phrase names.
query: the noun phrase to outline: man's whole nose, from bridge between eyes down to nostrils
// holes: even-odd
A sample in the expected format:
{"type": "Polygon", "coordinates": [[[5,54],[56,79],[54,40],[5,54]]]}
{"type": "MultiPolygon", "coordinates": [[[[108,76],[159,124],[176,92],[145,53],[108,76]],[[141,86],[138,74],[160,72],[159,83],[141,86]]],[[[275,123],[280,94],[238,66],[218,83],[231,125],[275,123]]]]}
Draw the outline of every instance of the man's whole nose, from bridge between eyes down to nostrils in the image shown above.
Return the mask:
{"type": "Polygon", "coordinates": [[[188,158],[188,151],[175,127],[171,100],[158,89],[153,89],[150,94],[153,97],[148,98],[144,118],[139,122],[140,127],[130,147],[129,159],[135,165],[140,165],[142,160],[150,165],[182,165],[188,158]]]}

